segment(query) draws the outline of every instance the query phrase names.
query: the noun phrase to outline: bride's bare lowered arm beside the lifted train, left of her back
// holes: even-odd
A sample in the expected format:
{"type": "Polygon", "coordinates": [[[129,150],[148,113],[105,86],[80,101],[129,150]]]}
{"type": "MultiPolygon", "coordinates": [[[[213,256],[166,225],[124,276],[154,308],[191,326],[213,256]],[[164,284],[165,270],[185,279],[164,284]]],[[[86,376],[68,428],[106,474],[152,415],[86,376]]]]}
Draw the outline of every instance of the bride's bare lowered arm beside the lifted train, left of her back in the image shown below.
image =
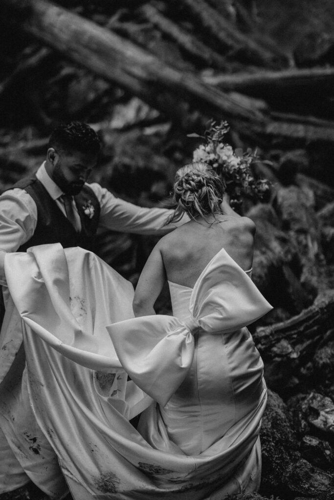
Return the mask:
{"type": "Polygon", "coordinates": [[[136,287],[133,299],[133,311],[136,317],[155,314],[153,306],[165,280],[166,272],[158,243],[147,259],[136,287]]]}

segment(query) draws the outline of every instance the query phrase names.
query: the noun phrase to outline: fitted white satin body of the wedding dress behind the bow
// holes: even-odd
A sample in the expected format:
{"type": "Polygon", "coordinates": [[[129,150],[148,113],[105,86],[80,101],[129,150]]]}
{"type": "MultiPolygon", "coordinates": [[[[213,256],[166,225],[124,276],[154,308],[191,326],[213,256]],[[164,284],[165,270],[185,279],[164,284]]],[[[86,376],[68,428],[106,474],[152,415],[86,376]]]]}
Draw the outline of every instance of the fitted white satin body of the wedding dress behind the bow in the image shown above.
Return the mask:
{"type": "MultiPolygon", "coordinates": [[[[173,312],[186,321],[192,290],[171,282],[169,287],[173,312]]],[[[160,407],[169,438],[188,455],[205,452],[261,400],[262,372],[247,328],[214,335],[198,332],[185,379],[160,407]]]]}

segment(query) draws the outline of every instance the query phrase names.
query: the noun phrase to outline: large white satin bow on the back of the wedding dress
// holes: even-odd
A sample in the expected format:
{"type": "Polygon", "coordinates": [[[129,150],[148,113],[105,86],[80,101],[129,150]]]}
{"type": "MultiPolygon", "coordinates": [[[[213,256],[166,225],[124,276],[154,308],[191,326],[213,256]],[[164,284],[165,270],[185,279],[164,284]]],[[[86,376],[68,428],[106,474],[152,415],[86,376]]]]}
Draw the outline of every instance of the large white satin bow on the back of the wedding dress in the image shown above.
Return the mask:
{"type": "Polygon", "coordinates": [[[190,369],[194,333],[231,332],[271,309],[249,276],[222,249],[195,283],[187,321],[157,314],[120,321],[107,330],[125,371],[164,406],[190,369]]]}

